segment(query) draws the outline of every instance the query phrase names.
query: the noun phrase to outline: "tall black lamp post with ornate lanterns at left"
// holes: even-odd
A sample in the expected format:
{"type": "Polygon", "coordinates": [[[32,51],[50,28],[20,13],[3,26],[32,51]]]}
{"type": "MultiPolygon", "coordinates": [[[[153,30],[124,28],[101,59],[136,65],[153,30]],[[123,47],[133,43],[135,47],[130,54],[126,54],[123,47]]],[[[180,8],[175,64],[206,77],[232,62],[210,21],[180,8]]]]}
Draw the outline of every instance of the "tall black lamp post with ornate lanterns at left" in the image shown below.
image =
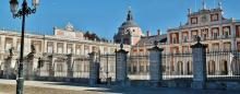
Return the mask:
{"type": "Polygon", "coordinates": [[[19,73],[16,78],[16,94],[23,94],[24,77],[23,77],[23,52],[24,52],[24,31],[25,31],[25,16],[36,12],[39,0],[33,0],[33,9],[27,5],[27,1],[23,0],[22,8],[19,10],[19,1],[10,0],[10,8],[13,17],[22,17],[22,36],[21,36],[21,51],[19,62],[19,73]]]}

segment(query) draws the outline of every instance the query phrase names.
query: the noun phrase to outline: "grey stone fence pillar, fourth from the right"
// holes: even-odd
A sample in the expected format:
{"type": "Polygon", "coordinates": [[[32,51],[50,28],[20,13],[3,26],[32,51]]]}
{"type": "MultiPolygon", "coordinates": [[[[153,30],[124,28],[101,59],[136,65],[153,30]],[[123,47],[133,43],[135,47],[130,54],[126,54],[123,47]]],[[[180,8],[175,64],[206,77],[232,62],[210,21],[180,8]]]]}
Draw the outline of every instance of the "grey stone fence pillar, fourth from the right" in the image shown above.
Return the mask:
{"type": "Polygon", "coordinates": [[[89,85],[96,86],[97,81],[99,79],[99,64],[97,62],[97,54],[89,54],[89,85]]]}

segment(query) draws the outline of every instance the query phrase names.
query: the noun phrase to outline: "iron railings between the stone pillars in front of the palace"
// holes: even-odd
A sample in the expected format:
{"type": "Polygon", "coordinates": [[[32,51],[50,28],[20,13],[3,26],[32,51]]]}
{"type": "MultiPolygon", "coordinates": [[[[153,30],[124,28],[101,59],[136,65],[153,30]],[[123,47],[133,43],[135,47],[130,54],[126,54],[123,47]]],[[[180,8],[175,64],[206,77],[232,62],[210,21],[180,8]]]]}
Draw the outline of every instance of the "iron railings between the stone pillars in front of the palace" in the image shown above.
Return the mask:
{"type": "MultiPolygon", "coordinates": [[[[206,52],[206,74],[208,81],[240,81],[239,51],[208,51],[206,52]]],[[[163,54],[161,71],[164,80],[192,80],[192,54],[163,54]]],[[[100,55],[99,77],[101,81],[116,78],[116,55],[100,55]]],[[[68,78],[65,62],[51,64],[46,62],[38,70],[39,77],[68,78]],[[58,64],[57,64],[58,63],[58,64]],[[51,73],[53,72],[53,73],[51,73]]],[[[130,80],[149,80],[149,56],[128,56],[127,71],[130,80]]],[[[82,58],[74,60],[72,78],[89,78],[89,60],[82,58]]]]}

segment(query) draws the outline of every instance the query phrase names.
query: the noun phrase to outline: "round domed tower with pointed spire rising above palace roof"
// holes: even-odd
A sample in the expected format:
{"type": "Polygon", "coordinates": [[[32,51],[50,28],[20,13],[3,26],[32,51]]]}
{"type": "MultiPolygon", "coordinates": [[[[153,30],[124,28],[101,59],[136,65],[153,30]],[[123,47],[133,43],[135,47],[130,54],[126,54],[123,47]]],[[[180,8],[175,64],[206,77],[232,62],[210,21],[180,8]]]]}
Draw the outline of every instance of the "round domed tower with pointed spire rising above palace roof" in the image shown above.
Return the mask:
{"type": "Polygon", "coordinates": [[[116,43],[123,43],[127,45],[135,45],[143,36],[141,27],[133,21],[132,11],[129,9],[127,14],[127,21],[119,27],[118,34],[113,39],[116,43]]]}

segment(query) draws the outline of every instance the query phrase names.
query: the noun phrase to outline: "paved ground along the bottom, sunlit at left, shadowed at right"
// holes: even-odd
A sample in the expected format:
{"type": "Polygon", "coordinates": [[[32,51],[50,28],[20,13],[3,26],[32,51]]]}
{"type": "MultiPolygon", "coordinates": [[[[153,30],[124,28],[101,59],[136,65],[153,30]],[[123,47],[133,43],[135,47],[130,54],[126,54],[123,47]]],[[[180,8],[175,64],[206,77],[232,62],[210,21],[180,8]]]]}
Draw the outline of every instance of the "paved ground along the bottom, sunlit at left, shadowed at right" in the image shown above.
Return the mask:
{"type": "MultiPolygon", "coordinates": [[[[89,87],[80,83],[25,81],[25,94],[240,94],[231,90],[191,90],[145,86],[104,86],[89,87]]],[[[0,94],[15,94],[15,81],[0,79],[0,94]]]]}

